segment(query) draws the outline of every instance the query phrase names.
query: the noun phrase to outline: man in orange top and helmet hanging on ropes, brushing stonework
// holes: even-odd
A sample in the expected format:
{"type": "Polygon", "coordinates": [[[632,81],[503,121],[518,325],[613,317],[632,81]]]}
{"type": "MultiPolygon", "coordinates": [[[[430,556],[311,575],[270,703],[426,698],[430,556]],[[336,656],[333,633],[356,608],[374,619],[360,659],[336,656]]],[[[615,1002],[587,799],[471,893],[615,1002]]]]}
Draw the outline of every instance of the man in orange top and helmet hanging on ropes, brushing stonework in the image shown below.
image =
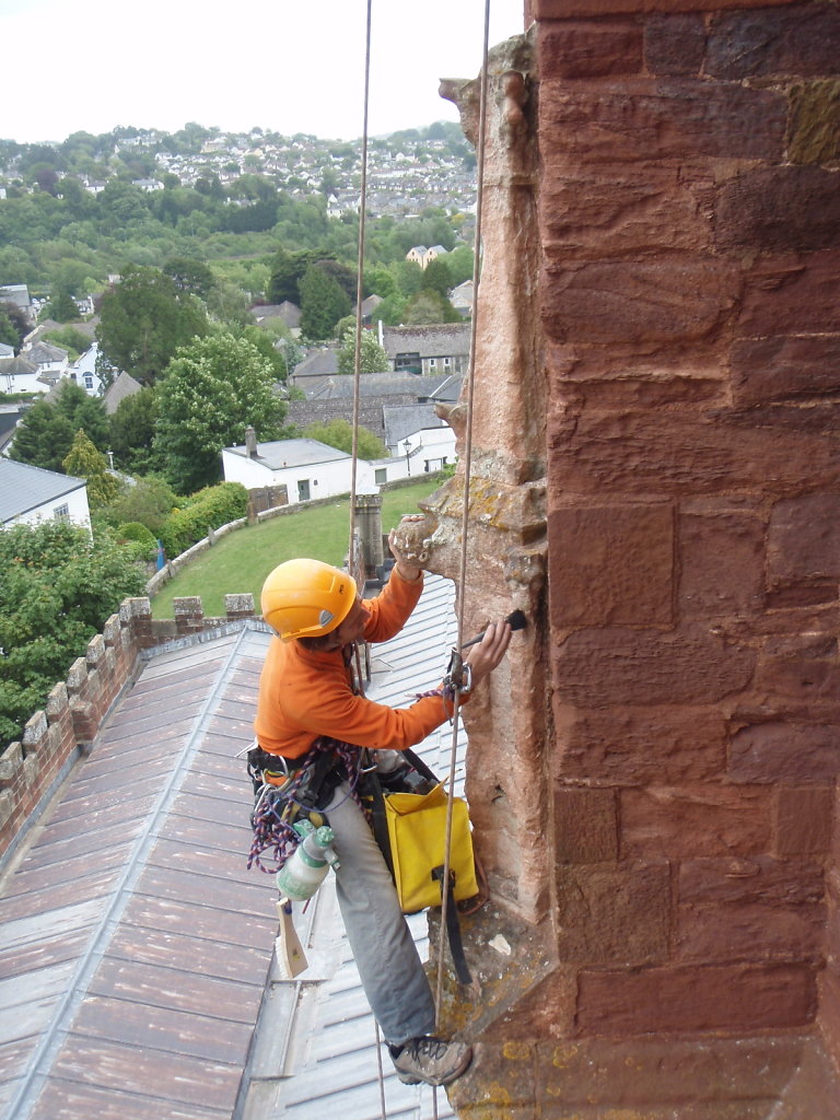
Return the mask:
{"type": "Polygon", "coordinates": [[[360,775],[366,752],[375,752],[380,769],[393,768],[393,752],[449,720],[454,688],[463,703],[504,657],[511,627],[506,620],[487,627],[455,685],[448,680],[402,709],[368,700],[354,687],[355,643],[399,634],[423,587],[422,570],[396,545],[393,531],[389,544],[395,564],[374,599],[362,599],[349,575],[318,560],[290,560],[268,576],[262,614],[278,636],[260,678],[258,746],[249,765],[263,782],[293,785],[292,801],[312,809],[315,823],[318,814],[328,821],[347,939],[396,1074],[405,1084],[446,1085],[464,1073],[473,1052],[433,1035],[435,999],[368,824],[360,775]]]}

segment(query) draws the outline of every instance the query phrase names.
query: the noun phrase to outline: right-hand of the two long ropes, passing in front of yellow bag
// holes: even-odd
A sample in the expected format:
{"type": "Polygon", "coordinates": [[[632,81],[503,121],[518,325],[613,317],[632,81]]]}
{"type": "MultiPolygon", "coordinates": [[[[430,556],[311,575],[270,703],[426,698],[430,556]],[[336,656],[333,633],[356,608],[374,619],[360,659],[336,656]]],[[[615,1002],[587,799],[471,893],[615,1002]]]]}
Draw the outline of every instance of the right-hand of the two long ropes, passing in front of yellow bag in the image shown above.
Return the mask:
{"type": "MultiPolygon", "coordinates": [[[[489,9],[491,0],[485,0],[484,4],[484,47],[482,52],[482,83],[480,104],[478,113],[478,151],[476,161],[476,224],[475,224],[475,260],[473,262],[473,319],[469,336],[469,371],[467,374],[467,424],[465,430],[464,450],[464,508],[461,512],[460,528],[460,564],[458,570],[458,586],[460,596],[458,599],[458,640],[456,648],[460,650],[464,644],[464,616],[467,598],[467,542],[469,531],[469,483],[473,468],[473,400],[475,395],[475,343],[478,326],[478,287],[480,283],[480,259],[482,259],[482,212],[484,209],[484,147],[487,127],[487,56],[489,52],[489,9]]],[[[455,790],[455,764],[458,749],[458,726],[460,721],[460,703],[458,693],[455,693],[455,710],[452,712],[452,738],[449,750],[449,786],[446,815],[446,846],[444,862],[444,883],[449,883],[449,865],[452,842],[452,797],[455,790]]],[[[444,946],[446,944],[445,931],[448,914],[448,892],[444,892],[440,911],[440,936],[438,937],[438,970],[437,988],[435,991],[435,1007],[438,1018],[440,1018],[440,1005],[444,998],[444,946]]]]}

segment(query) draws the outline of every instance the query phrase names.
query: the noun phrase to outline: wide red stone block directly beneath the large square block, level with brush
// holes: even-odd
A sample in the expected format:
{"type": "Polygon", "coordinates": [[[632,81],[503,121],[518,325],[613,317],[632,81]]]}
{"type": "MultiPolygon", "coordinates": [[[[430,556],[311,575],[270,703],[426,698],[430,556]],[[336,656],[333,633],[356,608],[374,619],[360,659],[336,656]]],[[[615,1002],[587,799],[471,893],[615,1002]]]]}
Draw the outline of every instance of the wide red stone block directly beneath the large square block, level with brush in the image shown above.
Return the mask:
{"type": "Polygon", "coordinates": [[[708,627],[659,633],[605,626],[570,634],[554,650],[560,703],[582,708],[713,704],[750,681],[755,653],[708,627]]]}

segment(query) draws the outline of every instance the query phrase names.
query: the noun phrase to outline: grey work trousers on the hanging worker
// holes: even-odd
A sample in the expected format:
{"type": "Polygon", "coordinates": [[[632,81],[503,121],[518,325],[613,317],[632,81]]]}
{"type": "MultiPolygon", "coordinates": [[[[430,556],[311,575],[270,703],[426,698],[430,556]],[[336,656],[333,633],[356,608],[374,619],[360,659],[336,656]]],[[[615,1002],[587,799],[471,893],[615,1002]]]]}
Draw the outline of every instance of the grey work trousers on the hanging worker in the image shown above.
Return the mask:
{"type": "Polygon", "coordinates": [[[364,813],[342,782],[324,810],[340,861],[336,894],[367,1002],[385,1042],[435,1030],[435,999],[400,909],[391,872],[364,813]]]}

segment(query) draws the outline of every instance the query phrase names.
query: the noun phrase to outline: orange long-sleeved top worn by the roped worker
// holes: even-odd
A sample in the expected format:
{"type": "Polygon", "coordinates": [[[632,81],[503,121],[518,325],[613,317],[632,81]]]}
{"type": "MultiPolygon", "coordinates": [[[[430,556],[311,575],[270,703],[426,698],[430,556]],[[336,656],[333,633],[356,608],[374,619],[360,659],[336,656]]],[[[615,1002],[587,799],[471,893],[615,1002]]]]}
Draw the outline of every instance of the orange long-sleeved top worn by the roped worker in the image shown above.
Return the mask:
{"type": "MultiPolygon", "coordinates": [[[[422,591],[422,579],[408,582],[394,568],[375,599],[365,640],[386,642],[399,634],[422,591]]],[[[340,650],[308,650],[300,642],[273,638],[260,676],[254,730],[263,750],[299,758],[318,736],[358,747],[404,750],[420,743],[452,712],[439,696],[408,708],[389,708],[355,696],[340,650]]]]}

